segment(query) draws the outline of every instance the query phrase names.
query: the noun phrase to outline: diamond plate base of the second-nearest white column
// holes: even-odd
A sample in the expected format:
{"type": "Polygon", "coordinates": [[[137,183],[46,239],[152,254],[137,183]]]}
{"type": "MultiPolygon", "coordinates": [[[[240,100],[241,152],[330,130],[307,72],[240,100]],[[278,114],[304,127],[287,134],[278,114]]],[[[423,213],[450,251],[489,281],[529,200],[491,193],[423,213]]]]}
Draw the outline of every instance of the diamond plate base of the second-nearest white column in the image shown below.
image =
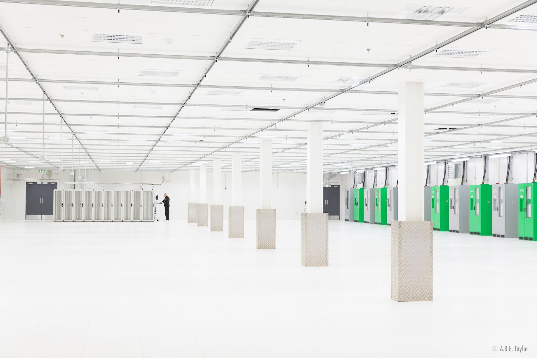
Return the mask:
{"type": "Polygon", "coordinates": [[[328,266],[328,213],[302,213],[302,266],[328,266]]]}

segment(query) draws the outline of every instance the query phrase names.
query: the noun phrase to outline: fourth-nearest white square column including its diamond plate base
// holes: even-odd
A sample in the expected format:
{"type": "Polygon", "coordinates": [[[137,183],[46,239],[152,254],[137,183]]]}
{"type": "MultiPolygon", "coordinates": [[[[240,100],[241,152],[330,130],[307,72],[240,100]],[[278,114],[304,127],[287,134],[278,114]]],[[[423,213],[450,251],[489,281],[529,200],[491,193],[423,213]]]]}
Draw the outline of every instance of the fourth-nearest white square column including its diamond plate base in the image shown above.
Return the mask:
{"type": "Polygon", "coordinates": [[[242,154],[231,158],[231,204],[228,215],[228,238],[244,238],[244,207],[242,204],[242,154]]]}

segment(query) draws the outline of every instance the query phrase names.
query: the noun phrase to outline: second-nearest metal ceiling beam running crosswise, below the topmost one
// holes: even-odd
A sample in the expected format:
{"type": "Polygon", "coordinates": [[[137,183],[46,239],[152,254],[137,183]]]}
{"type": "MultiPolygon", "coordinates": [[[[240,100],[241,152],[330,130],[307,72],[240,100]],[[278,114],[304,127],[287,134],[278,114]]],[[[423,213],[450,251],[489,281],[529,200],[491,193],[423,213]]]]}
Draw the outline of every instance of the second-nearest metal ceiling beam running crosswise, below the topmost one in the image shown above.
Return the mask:
{"type": "MultiPolygon", "coordinates": [[[[2,0],[0,0],[1,2],[2,0]]],[[[537,30],[537,27],[536,27],[537,30]]],[[[438,47],[437,49],[439,49],[438,47]]],[[[297,65],[323,65],[323,66],[344,66],[344,67],[367,67],[367,68],[406,68],[405,65],[393,63],[368,63],[368,62],[337,62],[337,61],[310,61],[310,60],[289,60],[289,59],[259,59],[253,57],[221,57],[221,56],[195,56],[195,55],[172,55],[172,54],[148,54],[132,52],[106,52],[87,50],[60,50],[43,48],[19,48],[21,53],[34,54],[55,54],[55,55],[81,55],[81,56],[106,56],[106,57],[138,57],[146,59],[172,59],[191,61],[227,61],[227,62],[251,62],[251,63],[284,63],[297,65]]],[[[412,65],[413,70],[440,70],[440,71],[473,71],[473,72],[507,72],[521,74],[537,74],[534,69],[516,68],[488,68],[488,67],[454,67],[454,66],[433,66],[433,65],[412,65]]]]}

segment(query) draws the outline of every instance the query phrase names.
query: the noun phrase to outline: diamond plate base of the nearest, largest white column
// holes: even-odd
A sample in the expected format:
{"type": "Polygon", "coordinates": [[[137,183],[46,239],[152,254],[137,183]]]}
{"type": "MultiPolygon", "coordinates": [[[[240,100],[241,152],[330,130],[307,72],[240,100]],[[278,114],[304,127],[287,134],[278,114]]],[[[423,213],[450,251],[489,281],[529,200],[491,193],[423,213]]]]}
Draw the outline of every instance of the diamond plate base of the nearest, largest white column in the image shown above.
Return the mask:
{"type": "Polygon", "coordinates": [[[391,222],[391,299],[432,301],[433,223],[391,222]]]}

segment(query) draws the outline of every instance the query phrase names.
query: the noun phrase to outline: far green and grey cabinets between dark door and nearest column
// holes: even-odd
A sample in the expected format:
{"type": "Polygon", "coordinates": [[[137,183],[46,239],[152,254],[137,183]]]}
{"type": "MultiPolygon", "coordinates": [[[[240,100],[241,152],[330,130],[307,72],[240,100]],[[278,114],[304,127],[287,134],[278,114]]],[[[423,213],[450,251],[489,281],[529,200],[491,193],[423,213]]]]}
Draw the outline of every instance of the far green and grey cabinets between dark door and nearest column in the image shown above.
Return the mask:
{"type": "Polygon", "coordinates": [[[391,225],[397,220],[397,187],[349,189],[346,195],[346,221],[391,225]]]}

